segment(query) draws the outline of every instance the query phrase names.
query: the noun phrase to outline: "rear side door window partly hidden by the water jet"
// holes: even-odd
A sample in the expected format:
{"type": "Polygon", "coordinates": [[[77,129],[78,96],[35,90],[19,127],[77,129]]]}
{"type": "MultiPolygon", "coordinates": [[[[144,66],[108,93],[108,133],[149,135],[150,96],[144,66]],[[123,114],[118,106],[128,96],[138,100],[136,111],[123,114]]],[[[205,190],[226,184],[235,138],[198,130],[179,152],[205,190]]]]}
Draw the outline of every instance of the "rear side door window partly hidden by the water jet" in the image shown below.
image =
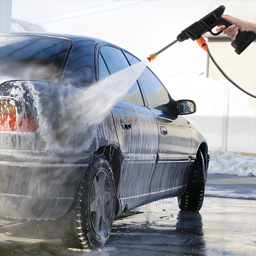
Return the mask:
{"type": "MultiPolygon", "coordinates": [[[[102,46],[100,48],[98,58],[100,79],[105,78],[108,74],[113,74],[114,72],[123,70],[129,66],[123,52],[120,49],[112,46],[102,46]]],[[[142,94],[137,82],[132,85],[128,93],[123,97],[123,100],[128,100],[130,102],[144,106],[142,94]]]]}

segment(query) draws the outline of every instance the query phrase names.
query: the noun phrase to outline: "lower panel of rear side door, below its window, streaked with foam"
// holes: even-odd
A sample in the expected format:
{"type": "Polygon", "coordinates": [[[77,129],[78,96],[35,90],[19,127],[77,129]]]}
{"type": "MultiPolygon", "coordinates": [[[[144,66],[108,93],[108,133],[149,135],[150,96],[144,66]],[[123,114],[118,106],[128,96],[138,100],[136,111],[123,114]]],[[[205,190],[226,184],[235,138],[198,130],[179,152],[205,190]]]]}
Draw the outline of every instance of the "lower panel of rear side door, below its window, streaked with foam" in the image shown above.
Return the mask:
{"type": "Polygon", "coordinates": [[[122,100],[112,109],[123,153],[117,195],[122,209],[132,209],[147,202],[156,165],[157,125],[147,107],[122,100]],[[138,196],[143,195],[143,196],[138,196]]]}

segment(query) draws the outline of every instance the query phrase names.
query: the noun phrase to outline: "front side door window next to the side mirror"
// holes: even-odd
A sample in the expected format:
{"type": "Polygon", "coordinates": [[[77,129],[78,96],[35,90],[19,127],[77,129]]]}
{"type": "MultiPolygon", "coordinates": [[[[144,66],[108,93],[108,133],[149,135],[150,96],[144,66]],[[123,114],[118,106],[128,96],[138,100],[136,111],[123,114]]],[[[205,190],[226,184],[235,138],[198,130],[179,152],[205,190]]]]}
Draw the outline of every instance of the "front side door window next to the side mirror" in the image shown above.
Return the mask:
{"type": "Polygon", "coordinates": [[[143,96],[148,101],[148,106],[168,113],[171,97],[164,85],[147,67],[138,78],[143,96]]]}

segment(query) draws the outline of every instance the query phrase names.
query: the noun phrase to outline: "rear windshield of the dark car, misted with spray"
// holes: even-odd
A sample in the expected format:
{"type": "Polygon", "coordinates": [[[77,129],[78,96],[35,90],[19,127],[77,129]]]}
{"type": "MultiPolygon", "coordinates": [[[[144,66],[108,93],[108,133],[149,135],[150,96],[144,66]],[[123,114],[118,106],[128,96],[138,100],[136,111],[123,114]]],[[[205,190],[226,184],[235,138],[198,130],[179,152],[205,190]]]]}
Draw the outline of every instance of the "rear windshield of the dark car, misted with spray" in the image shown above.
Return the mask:
{"type": "Polygon", "coordinates": [[[57,37],[1,35],[0,76],[58,81],[71,45],[69,39],[57,37]]]}

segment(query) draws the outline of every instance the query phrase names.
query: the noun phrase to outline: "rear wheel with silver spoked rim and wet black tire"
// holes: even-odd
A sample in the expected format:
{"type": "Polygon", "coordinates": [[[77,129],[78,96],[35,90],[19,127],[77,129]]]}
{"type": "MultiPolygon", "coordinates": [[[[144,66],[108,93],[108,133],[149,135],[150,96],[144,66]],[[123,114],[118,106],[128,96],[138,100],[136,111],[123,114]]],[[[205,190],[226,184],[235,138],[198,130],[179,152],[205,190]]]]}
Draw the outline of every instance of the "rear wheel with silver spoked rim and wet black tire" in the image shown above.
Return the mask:
{"type": "Polygon", "coordinates": [[[67,214],[69,226],[63,242],[67,247],[86,249],[104,245],[115,213],[114,177],[107,158],[95,156],[79,184],[67,214]]]}

